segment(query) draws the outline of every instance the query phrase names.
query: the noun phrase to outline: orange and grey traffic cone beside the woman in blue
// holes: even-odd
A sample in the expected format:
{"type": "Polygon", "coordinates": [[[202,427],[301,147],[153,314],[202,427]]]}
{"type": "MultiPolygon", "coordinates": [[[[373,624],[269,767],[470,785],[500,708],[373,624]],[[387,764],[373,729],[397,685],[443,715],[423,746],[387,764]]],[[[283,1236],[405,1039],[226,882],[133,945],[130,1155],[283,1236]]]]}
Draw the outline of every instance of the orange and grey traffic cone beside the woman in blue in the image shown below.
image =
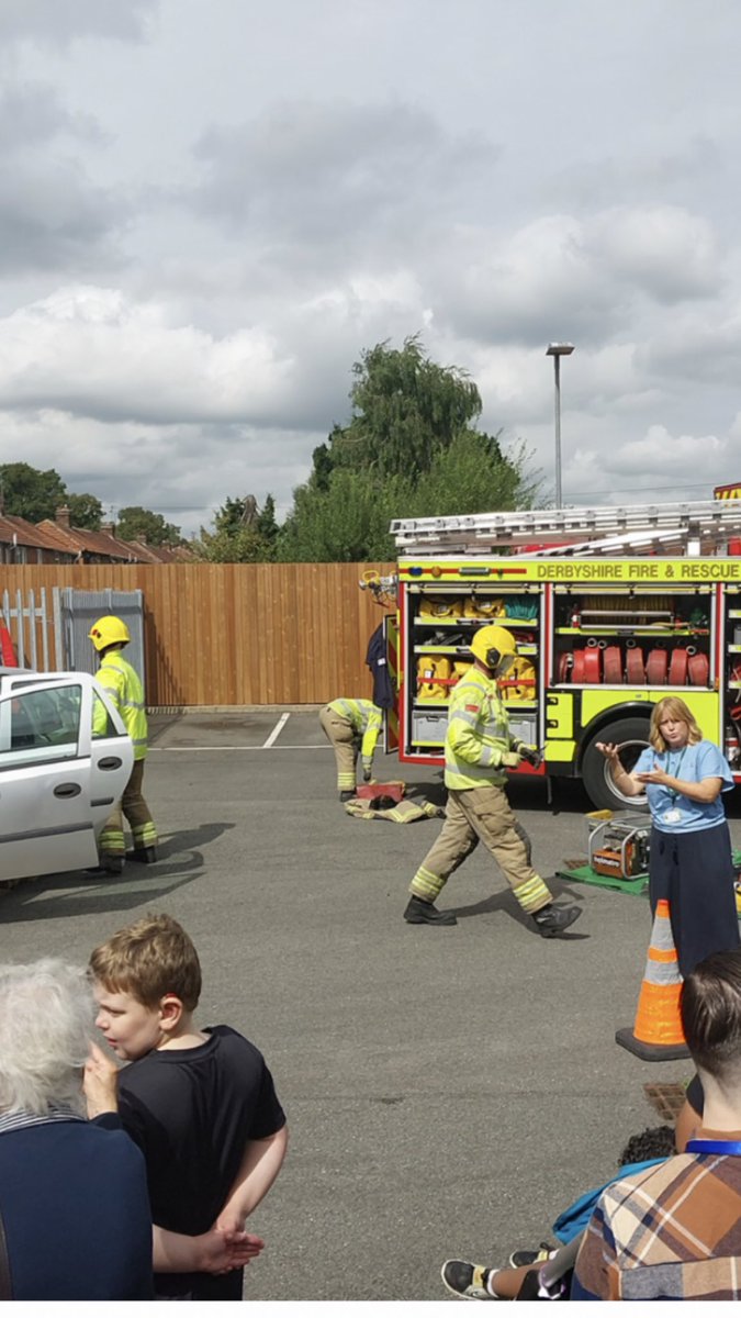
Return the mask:
{"type": "Polygon", "coordinates": [[[679,1015],[682,975],[671,934],[668,902],[657,904],[646,973],[633,1029],[618,1029],[614,1041],[645,1062],[688,1057],[679,1015]]]}

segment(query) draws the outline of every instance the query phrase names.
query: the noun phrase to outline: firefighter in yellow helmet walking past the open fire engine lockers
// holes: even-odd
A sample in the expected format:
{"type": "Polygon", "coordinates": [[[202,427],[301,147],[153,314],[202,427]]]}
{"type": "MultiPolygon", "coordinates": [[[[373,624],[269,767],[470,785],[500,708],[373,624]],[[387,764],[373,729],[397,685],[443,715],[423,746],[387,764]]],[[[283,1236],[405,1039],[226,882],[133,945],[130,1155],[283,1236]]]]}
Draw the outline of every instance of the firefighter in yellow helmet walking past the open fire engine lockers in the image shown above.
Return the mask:
{"type": "Polygon", "coordinates": [[[581,915],[579,907],[555,907],[539,874],[530,866],[529,845],[506,799],[505,770],[537,753],[509,731],[497,689],[517,654],[505,627],[480,627],[471,641],[473,663],[452,688],[446,733],[446,822],[410,884],[403,912],[409,924],[458,924],[452,911],[438,911],[435,899],[447,879],[483,842],[501,866],[522,909],[543,938],[562,933],[581,915]]]}

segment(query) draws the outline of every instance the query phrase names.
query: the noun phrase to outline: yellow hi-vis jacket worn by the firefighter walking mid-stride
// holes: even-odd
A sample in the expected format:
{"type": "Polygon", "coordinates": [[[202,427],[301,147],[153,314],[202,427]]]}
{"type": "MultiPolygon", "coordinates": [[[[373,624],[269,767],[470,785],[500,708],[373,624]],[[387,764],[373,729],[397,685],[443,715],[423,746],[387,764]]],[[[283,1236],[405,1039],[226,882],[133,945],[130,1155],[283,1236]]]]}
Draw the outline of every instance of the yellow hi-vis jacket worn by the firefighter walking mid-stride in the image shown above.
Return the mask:
{"type": "Polygon", "coordinates": [[[471,667],[452,688],[446,733],[446,787],[463,792],[506,782],[502,755],[512,737],[493,677],[471,667]]]}

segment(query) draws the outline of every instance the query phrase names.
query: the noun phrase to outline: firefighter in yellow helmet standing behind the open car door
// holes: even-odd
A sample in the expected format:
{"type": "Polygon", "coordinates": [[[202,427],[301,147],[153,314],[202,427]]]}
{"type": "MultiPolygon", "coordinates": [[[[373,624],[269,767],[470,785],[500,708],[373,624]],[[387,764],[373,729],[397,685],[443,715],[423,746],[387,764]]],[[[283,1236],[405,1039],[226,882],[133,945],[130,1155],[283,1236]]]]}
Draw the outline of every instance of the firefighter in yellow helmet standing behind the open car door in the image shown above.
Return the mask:
{"type": "MultiPolygon", "coordinates": [[[[124,795],[120,804],[105,820],[98,838],[100,867],[109,874],[120,874],[127,855],[123,815],[129,822],[133,838],[133,851],[129,851],[129,859],[141,861],[145,865],[152,865],[157,859],[157,829],[141,795],[148,749],[146,710],[138,673],[123,655],[124,646],[128,646],[131,641],[125,622],[111,616],[99,618],[98,622],[94,622],[88,637],[100,655],[100,667],[95,676],[113,701],[133,742],[133,768],[124,795]]],[[[96,701],[92,718],[94,737],[103,735],[107,724],[108,716],[103,702],[96,701]]]]}

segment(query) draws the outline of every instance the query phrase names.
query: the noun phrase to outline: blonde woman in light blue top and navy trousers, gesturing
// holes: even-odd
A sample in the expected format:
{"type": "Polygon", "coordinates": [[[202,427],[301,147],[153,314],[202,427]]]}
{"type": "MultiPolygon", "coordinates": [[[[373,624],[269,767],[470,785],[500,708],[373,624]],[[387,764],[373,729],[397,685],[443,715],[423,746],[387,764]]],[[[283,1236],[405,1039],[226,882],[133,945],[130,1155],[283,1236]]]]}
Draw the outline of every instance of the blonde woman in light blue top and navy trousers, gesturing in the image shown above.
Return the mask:
{"type": "Polygon", "coordinates": [[[621,764],[618,746],[597,742],[597,749],[624,796],[646,792],[653,822],[651,913],[661,898],[668,900],[679,970],[686,977],[711,953],[738,946],[730,834],[721,800],[733,787],[733,775],[679,696],[654,705],[649,741],[632,772],[621,764]]]}

